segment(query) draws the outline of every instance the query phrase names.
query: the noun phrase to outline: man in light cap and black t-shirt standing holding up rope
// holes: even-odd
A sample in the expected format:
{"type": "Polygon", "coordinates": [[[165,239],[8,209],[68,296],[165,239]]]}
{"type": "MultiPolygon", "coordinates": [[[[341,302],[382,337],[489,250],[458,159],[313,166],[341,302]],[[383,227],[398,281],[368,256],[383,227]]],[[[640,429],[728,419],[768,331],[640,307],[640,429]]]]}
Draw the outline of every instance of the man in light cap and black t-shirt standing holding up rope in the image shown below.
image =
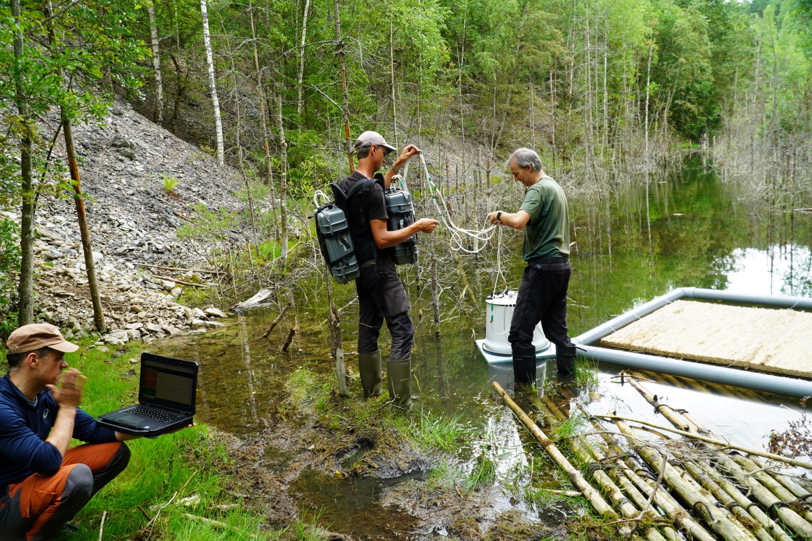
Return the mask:
{"type": "Polygon", "coordinates": [[[392,337],[387,361],[389,397],[404,409],[412,406],[412,339],[414,325],[408,316],[409,302],[391,250],[413,234],[431,233],[438,221],[422,218],[400,230],[387,230],[387,205],[383,191],[409,158],[421,151],[413,144],[400,152],[386,174],[378,173],[384,157],[397,149],[377,131],[365,131],[355,143],[358,169],[340,182],[346,193],[356,182],[365,186],[348,200],[348,222],[356,257],[361,264],[358,291],[358,371],[364,396],[382,393],[381,350],[378,335],[383,321],[392,337]],[[378,174],[376,174],[378,173],[378,174]]]}

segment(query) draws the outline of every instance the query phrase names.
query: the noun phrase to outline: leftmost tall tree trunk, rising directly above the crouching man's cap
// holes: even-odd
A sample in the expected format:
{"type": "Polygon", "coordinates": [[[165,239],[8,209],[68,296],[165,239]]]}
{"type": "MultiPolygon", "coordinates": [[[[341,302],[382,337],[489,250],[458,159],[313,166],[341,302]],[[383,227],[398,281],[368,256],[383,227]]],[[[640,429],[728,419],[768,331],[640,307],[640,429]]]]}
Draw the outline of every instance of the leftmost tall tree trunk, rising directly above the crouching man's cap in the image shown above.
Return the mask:
{"type": "Polygon", "coordinates": [[[28,118],[28,100],[23,88],[23,73],[19,69],[19,60],[23,56],[23,31],[20,24],[22,17],[22,7],[20,0],[11,0],[11,15],[14,17],[16,28],[14,30],[14,84],[15,103],[19,111],[20,118],[24,122],[24,135],[19,142],[19,174],[23,188],[23,208],[22,218],[19,224],[19,247],[22,257],[19,264],[19,287],[17,296],[19,297],[19,314],[17,316],[19,325],[27,325],[34,322],[34,211],[36,198],[34,197],[34,186],[31,177],[31,151],[32,134],[31,119],[28,118]]]}

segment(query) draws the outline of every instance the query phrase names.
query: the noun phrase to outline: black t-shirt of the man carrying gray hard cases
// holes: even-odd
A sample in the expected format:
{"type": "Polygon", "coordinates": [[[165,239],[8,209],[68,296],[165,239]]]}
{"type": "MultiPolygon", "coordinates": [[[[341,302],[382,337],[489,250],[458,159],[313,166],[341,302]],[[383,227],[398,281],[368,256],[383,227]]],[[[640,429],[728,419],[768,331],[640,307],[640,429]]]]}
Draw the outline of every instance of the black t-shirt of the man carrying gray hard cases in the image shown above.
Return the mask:
{"type": "MultiPolygon", "coordinates": [[[[356,182],[367,180],[367,178],[357,171],[341,181],[340,186],[344,192],[348,192],[356,182]]],[[[378,265],[394,265],[391,250],[378,250],[372,236],[372,230],[363,212],[363,208],[358,203],[363,204],[363,195],[358,192],[352,196],[348,208],[348,221],[350,225],[350,235],[352,243],[355,245],[358,263],[364,264],[371,260],[377,260],[378,265]]],[[[383,199],[383,187],[375,182],[369,188],[368,205],[369,220],[387,220],[387,203],[383,199]]]]}

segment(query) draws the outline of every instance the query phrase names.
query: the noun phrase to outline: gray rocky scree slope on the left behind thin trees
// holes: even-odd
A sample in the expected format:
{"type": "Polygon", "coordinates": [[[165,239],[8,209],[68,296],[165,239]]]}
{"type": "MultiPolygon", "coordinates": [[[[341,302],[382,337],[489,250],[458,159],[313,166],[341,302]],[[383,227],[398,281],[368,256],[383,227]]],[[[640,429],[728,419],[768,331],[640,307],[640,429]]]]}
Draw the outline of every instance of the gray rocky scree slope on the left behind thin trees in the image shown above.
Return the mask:
{"type": "MultiPolygon", "coordinates": [[[[55,126],[57,119],[53,120],[55,126]]],[[[210,270],[206,243],[191,250],[177,231],[193,204],[242,210],[233,195],[239,188],[235,171],[218,166],[199,148],[125,103],[115,104],[104,122],[102,127],[74,128],[102,306],[111,331],[101,339],[112,343],[150,340],[221,325],[214,318],[222,317],[222,312],[214,307],[184,307],[177,302],[182,288],[156,277],[206,281],[210,274],[179,274],[155,266],[210,270]],[[166,191],[164,174],[177,179],[176,194],[172,194],[176,196],[166,191]]],[[[64,148],[54,152],[64,159],[64,148]]],[[[39,200],[35,310],[38,320],[58,325],[66,336],[81,337],[93,332],[93,308],[76,206],[66,196],[70,193],[42,195],[39,200]]],[[[16,212],[8,215],[19,220],[16,212]]]]}

